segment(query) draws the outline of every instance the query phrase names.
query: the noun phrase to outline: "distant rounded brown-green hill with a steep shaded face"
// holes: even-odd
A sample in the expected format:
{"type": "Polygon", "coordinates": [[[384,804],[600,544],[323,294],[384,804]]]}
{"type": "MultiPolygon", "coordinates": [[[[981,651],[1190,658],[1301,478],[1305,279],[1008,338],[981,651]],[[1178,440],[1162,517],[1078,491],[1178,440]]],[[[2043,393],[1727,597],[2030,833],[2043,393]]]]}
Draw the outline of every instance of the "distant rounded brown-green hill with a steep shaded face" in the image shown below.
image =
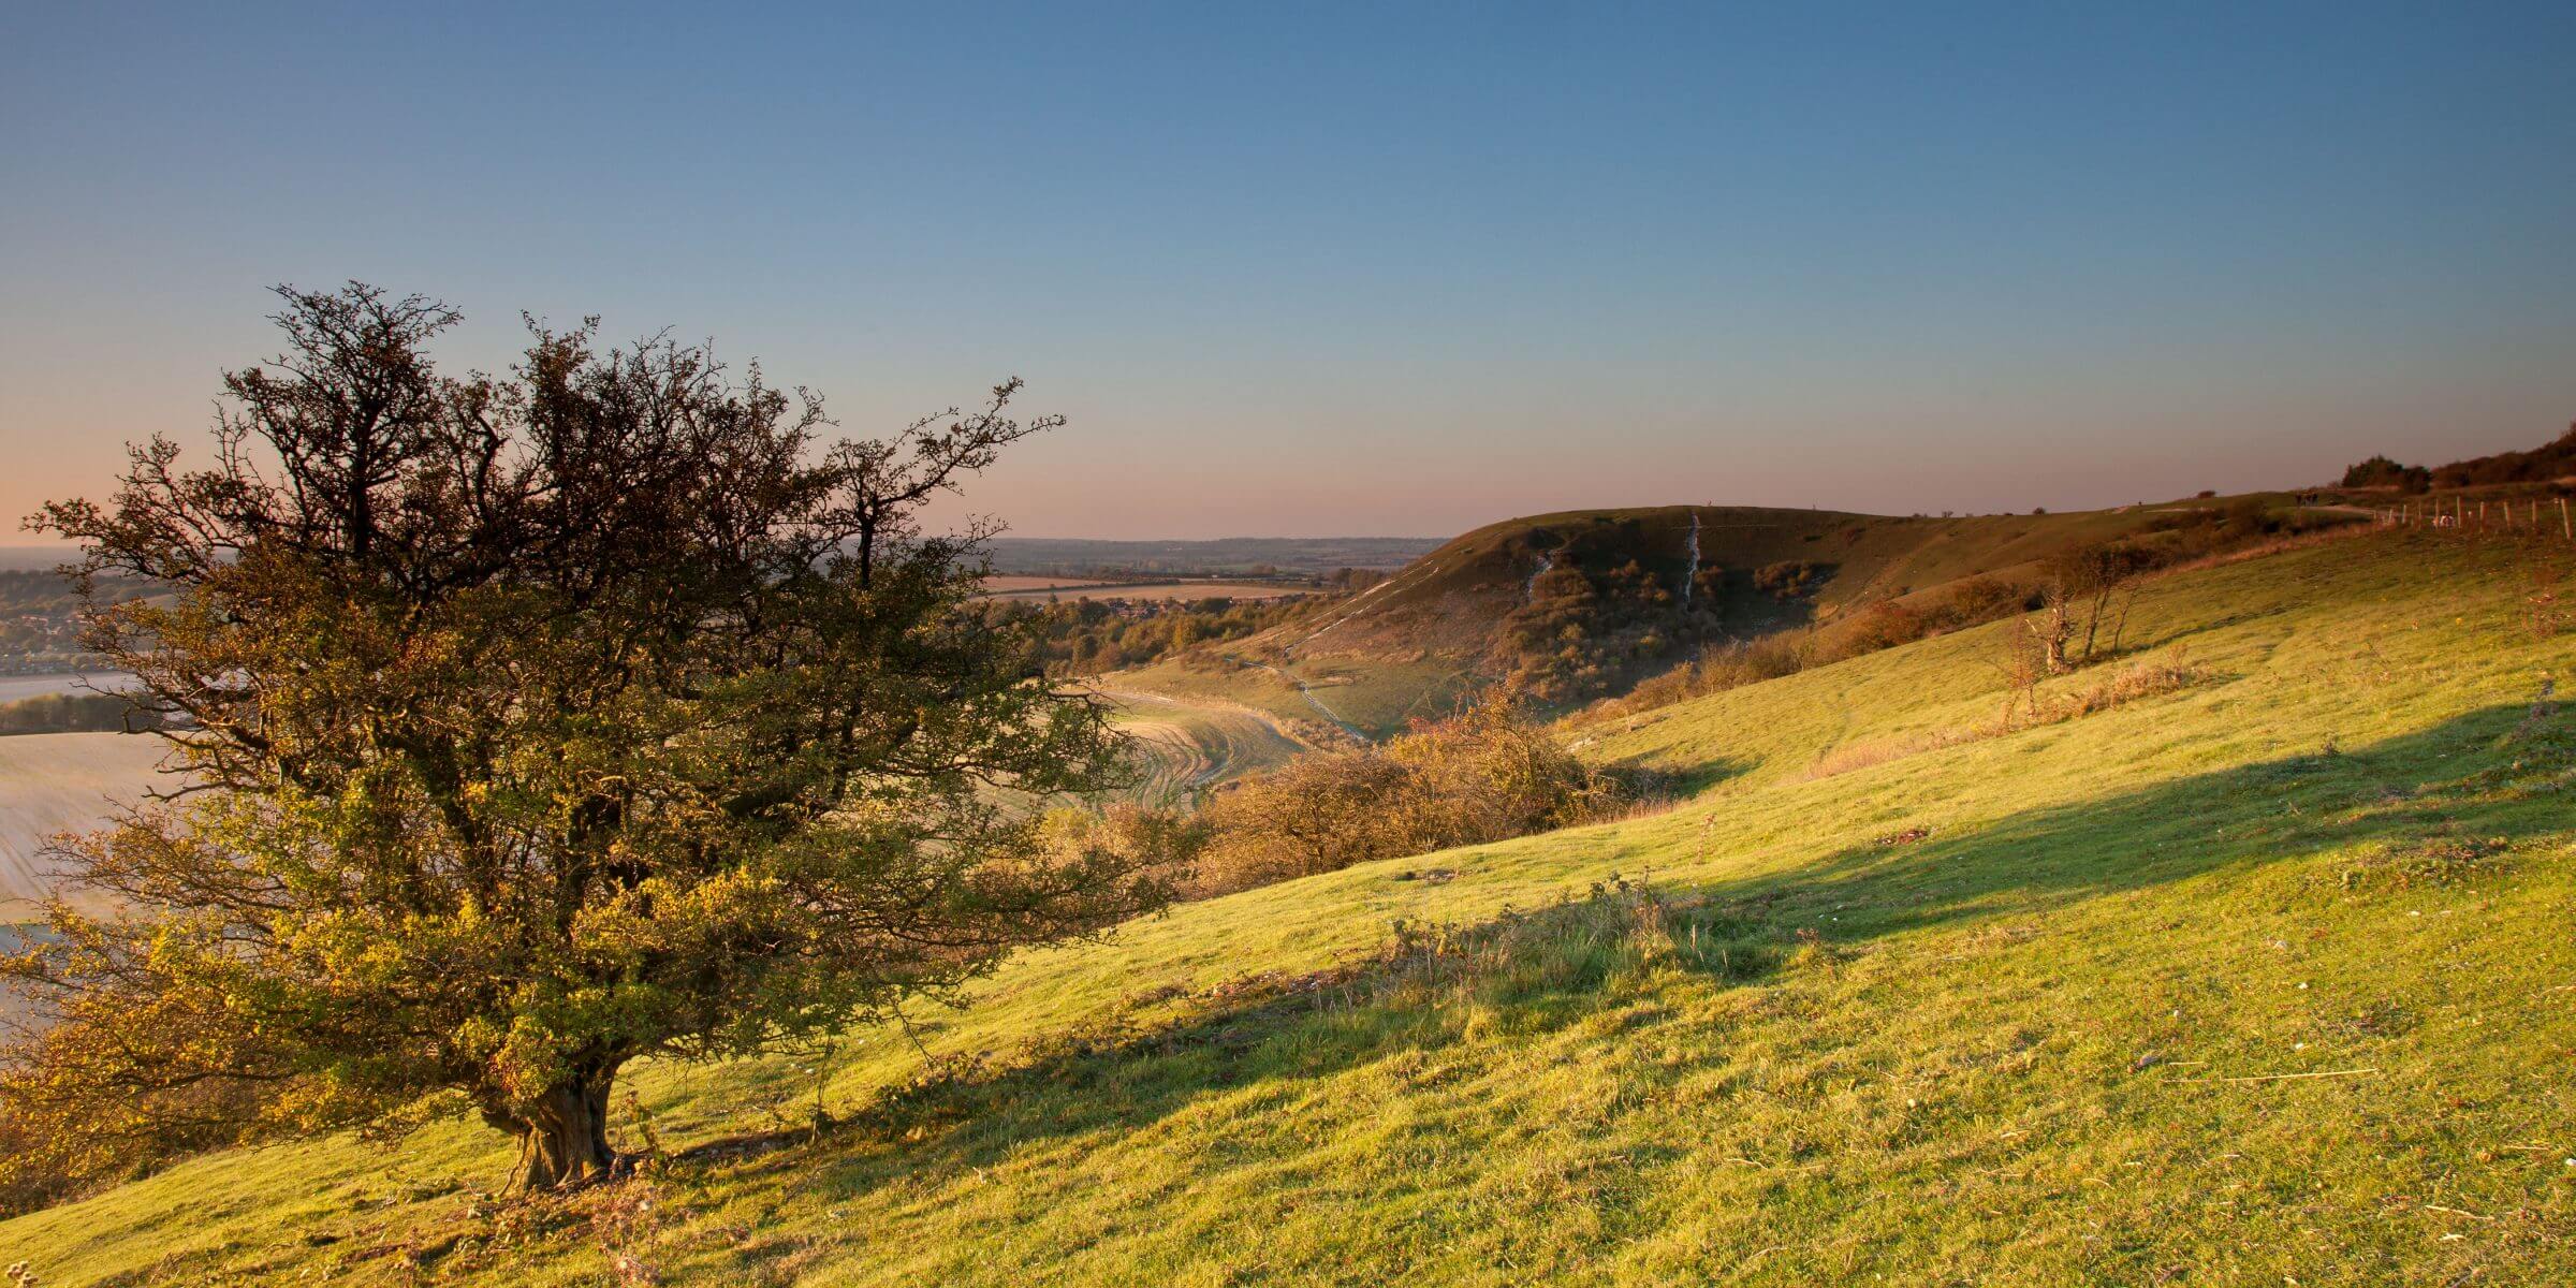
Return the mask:
{"type": "Polygon", "coordinates": [[[2218,520],[2236,505],[2290,515],[2287,495],[2254,495],[2069,515],[1664,505],[1515,518],[1458,536],[1345,603],[1231,641],[1224,657],[1200,649],[1121,683],[1283,719],[1321,703],[1365,737],[1440,716],[1497,680],[1540,706],[1571,708],[1708,644],[1806,626],[1832,636],[1860,626],[1862,605],[1932,608],[1973,577],[2030,582],[2040,559],[2084,541],[2138,536],[2172,546],[2184,541],[2172,528],[2218,520]]]}

